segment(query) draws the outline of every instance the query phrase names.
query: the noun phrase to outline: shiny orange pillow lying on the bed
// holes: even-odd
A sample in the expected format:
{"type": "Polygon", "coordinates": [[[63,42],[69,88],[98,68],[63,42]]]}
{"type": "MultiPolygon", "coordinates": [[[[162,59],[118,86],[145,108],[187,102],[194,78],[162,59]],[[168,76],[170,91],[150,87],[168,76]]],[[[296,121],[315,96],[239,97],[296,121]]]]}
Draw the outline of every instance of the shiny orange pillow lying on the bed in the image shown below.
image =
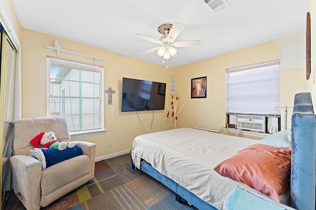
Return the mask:
{"type": "Polygon", "coordinates": [[[253,144],[224,160],[214,170],[280,203],[279,195],[286,191],[290,182],[291,147],[253,144]]]}

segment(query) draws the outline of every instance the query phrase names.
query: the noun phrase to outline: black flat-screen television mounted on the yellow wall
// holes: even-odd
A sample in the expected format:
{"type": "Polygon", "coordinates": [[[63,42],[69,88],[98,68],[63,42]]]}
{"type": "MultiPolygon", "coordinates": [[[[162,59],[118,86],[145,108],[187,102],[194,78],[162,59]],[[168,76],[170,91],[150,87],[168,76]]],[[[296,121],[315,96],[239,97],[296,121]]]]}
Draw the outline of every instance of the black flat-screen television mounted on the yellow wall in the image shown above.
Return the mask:
{"type": "Polygon", "coordinates": [[[163,110],[166,83],[123,77],[121,111],[163,110]]]}

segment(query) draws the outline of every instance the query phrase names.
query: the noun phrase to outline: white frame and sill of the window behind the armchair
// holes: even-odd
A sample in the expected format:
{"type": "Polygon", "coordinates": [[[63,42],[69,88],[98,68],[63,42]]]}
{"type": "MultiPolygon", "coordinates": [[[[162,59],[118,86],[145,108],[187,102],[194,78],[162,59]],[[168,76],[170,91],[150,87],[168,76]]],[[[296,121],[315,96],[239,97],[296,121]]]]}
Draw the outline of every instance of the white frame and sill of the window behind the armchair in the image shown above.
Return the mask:
{"type": "MultiPolygon", "coordinates": [[[[78,69],[80,70],[80,66],[81,66],[81,70],[85,70],[86,67],[89,68],[99,68],[99,97],[100,98],[100,104],[99,104],[99,128],[93,128],[93,129],[86,129],[86,130],[74,130],[74,131],[70,131],[70,136],[71,138],[76,138],[76,137],[83,137],[83,136],[91,136],[91,135],[98,135],[98,134],[104,134],[106,132],[106,130],[104,129],[104,95],[103,95],[103,71],[104,68],[103,66],[98,66],[98,65],[93,65],[93,64],[88,64],[88,63],[82,63],[82,62],[78,62],[78,61],[74,61],[74,60],[67,60],[67,59],[62,59],[62,58],[57,58],[57,57],[52,57],[52,56],[47,56],[46,57],[46,71],[47,71],[47,117],[53,117],[50,113],[50,83],[51,83],[51,72],[50,72],[50,67],[54,66],[52,65],[52,62],[60,62],[63,63],[64,65],[67,65],[67,63],[69,64],[74,64],[76,67],[79,67],[78,69]]],[[[80,98],[80,97],[79,97],[80,98]]],[[[84,97],[82,97],[84,98],[84,97]]],[[[64,99],[64,98],[63,98],[64,99]]],[[[64,104],[61,104],[64,105],[64,104]]],[[[95,112],[94,112],[95,113],[95,112]]]]}

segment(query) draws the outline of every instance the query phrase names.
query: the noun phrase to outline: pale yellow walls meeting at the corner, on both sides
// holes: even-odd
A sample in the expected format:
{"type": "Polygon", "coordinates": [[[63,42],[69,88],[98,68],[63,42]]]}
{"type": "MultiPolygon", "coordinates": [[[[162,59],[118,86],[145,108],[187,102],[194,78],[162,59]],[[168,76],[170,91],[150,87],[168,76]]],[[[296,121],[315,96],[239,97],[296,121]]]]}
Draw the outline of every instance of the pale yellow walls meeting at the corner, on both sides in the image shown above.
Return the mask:
{"type": "MultiPolygon", "coordinates": [[[[75,139],[97,143],[96,157],[127,150],[132,147],[132,140],[135,136],[145,133],[135,112],[120,112],[122,77],[165,82],[168,93],[169,78],[176,76],[177,94],[180,96],[181,104],[185,104],[182,113],[178,116],[177,127],[202,127],[220,130],[226,123],[225,69],[279,58],[281,58],[281,106],[292,106],[294,94],[297,92],[309,91],[312,93],[313,100],[316,101],[316,8],[313,0],[309,0],[309,10],[312,17],[312,72],[309,80],[305,79],[305,67],[301,65],[301,58],[298,58],[300,56],[305,58],[304,53],[300,53],[299,56],[283,56],[284,52],[288,51],[286,48],[292,49],[289,43],[301,42],[301,37],[304,34],[290,37],[294,41],[280,39],[176,69],[165,69],[163,66],[73,41],[21,29],[17,24],[11,1],[3,0],[3,3],[10,18],[12,18],[14,31],[22,44],[22,118],[46,116],[46,56],[56,56],[56,52],[46,49],[46,46],[53,46],[55,39],[59,40],[63,49],[105,59],[105,61],[98,61],[97,64],[104,66],[104,88],[107,89],[111,86],[116,90],[116,94],[113,96],[113,108],[116,110],[115,119],[112,119],[112,106],[107,105],[107,95],[105,94],[104,123],[107,132],[103,135],[75,139]],[[288,61],[293,60],[293,58],[298,60],[298,65],[282,65],[290,63],[288,61]],[[191,79],[201,76],[207,76],[207,98],[191,99],[191,79]],[[107,147],[108,141],[112,142],[111,148],[107,147]]],[[[300,50],[301,47],[305,48],[304,44],[299,44],[300,50]]],[[[296,51],[296,49],[291,51],[296,51]]],[[[60,57],[93,63],[92,59],[70,54],[61,53],[60,57]]],[[[169,98],[166,96],[166,103],[168,101],[169,98]]],[[[281,114],[282,112],[283,110],[281,110],[281,114]]],[[[289,112],[291,112],[290,109],[289,112]]],[[[288,114],[288,121],[290,114],[288,114]]],[[[153,127],[151,127],[153,112],[139,112],[139,118],[148,133],[152,132],[152,128],[154,132],[174,128],[174,121],[171,118],[166,118],[165,111],[155,111],[154,115],[153,127]]],[[[282,123],[284,123],[284,119],[282,123]]]]}

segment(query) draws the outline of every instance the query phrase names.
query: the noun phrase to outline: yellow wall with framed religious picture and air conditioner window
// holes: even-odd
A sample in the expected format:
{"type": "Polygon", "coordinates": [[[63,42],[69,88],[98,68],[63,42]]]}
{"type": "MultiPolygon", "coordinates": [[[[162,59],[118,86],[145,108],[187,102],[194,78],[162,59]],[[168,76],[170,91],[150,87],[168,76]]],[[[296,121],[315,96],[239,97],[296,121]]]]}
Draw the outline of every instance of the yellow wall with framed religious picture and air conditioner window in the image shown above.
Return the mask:
{"type": "MultiPolygon", "coordinates": [[[[301,36],[297,35],[294,39],[299,41],[301,36]]],[[[284,44],[288,45],[286,42],[284,44]]],[[[279,41],[271,41],[175,69],[177,92],[186,103],[185,110],[179,117],[178,126],[217,131],[225,127],[225,70],[279,58],[279,41]],[[202,76],[207,76],[207,98],[191,99],[191,78],[202,76]]],[[[282,63],[287,63],[288,59],[291,57],[285,56],[281,61],[281,106],[293,106],[295,93],[306,91],[305,68],[282,69],[282,63]]],[[[281,114],[283,113],[284,109],[281,109],[281,114]]],[[[289,114],[287,117],[288,122],[290,116],[289,114]]],[[[284,117],[281,117],[283,129],[284,117]]]]}

